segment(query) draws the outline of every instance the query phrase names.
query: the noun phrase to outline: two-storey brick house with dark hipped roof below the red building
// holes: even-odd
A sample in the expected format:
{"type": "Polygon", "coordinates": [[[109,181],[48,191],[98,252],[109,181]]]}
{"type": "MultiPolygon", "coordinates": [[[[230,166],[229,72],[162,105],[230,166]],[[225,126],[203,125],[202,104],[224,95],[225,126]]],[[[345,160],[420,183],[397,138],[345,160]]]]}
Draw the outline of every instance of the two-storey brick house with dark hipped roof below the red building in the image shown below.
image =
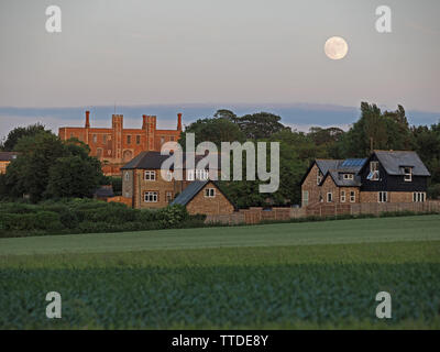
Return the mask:
{"type": "MultiPolygon", "coordinates": [[[[136,209],[164,208],[193,182],[208,180],[208,169],[187,168],[186,154],[183,157],[183,179],[174,179],[174,168],[163,178],[162,164],[168,157],[168,155],[161,155],[160,152],[142,152],[121,167],[122,197],[125,204],[131,204],[136,209]]],[[[202,155],[195,157],[196,165],[202,157],[202,155]]]]}

